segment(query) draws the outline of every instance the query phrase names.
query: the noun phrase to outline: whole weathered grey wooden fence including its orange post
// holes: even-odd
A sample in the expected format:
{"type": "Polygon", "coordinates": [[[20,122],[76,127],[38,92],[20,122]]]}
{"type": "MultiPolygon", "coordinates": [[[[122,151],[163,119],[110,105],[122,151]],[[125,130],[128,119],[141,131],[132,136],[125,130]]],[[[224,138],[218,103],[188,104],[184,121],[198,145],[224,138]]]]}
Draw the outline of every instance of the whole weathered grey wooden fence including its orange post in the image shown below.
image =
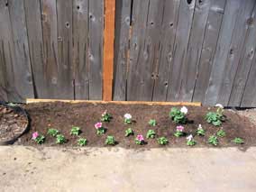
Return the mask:
{"type": "Polygon", "coordinates": [[[255,3],[0,0],[0,99],[256,106],[255,3]]]}

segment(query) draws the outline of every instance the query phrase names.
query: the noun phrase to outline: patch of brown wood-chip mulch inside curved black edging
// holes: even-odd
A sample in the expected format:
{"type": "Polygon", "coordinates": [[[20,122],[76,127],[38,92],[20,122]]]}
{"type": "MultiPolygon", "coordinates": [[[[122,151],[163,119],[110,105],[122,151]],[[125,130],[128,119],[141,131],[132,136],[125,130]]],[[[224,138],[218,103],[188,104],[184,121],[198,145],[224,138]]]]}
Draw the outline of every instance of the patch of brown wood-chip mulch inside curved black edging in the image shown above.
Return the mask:
{"type": "Polygon", "coordinates": [[[28,125],[26,115],[19,110],[0,105],[0,144],[13,142],[28,125]]]}

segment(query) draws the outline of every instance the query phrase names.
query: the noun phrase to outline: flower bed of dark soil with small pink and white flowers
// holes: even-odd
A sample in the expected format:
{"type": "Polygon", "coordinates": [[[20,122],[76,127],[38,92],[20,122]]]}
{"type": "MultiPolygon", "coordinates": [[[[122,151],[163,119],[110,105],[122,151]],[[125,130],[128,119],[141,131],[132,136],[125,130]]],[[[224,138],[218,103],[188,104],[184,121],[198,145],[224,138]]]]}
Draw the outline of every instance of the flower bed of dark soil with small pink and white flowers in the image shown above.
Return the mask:
{"type": "Polygon", "coordinates": [[[256,129],[245,117],[221,110],[224,117],[220,118],[216,107],[178,106],[174,109],[169,105],[59,102],[24,107],[32,122],[29,133],[17,142],[23,145],[38,145],[35,139],[32,140],[35,132],[45,137],[44,146],[154,148],[248,147],[256,144],[256,129]],[[50,129],[56,129],[58,133],[55,131],[55,136],[51,135],[50,129]],[[57,142],[57,135],[63,142],[57,142]]]}

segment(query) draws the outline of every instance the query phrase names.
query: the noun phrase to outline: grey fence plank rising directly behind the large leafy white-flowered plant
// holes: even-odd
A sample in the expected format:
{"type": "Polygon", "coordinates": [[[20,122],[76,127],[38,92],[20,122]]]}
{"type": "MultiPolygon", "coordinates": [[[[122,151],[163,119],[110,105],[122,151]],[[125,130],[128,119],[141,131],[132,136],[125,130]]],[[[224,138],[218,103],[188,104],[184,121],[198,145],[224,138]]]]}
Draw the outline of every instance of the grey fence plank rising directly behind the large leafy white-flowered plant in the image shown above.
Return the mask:
{"type": "Polygon", "coordinates": [[[178,101],[180,99],[180,88],[182,83],[181,71],[187,57],[187,45],[196,0],[180,0],[178,13],[178,26],[174,44],[173,65],[169,77],[168,101],[178,101]]]}

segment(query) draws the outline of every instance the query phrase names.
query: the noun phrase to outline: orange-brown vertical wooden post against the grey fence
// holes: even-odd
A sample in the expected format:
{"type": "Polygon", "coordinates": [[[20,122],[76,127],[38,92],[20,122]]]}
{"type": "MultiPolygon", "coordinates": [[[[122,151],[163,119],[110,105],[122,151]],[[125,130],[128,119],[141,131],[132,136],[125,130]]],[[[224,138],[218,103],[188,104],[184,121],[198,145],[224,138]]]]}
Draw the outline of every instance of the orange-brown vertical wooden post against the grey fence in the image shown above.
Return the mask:
{"type": "Polygon", "coordinates": [[[105,0],[103,100],[112,100],[114,75],[114,13],[115,0],[105,0]]]}

